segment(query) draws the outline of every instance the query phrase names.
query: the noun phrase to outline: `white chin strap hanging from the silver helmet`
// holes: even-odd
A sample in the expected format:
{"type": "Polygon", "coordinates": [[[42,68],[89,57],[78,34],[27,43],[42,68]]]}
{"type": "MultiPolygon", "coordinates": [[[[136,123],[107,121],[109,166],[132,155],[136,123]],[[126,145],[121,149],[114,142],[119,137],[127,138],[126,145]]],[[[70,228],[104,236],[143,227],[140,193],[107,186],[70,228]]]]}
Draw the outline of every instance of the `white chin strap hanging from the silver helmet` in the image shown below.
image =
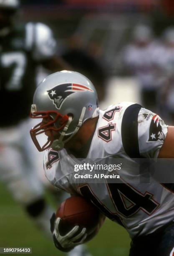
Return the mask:
{"type": "Polygon", "coordinates": [[[73,118],[72,116],[68,117],[68,122],[66,124],[66,126],[63,128],[63,131],[61,132],[61,136],[59,139],[56,139],[53,141],[51,148],[53,148],[53,150],[55,151],[59,151],[62,148],[64,148],[64,145],[66,142],[68,142],[79,130],[79,128],[81,127],[81,125],[83,124],[83,118],[85,115],[85,111],[86,111],[86,107],[83,107],[82,112],[81,112],[81,116],[78,120],[78,125],[76,126],[76,129],[74,130],[74,132],[71,134],[70,137],[68,137],[67,140],[63,141],[64,136],[66,135],[66,131],[68,130],[68,127],[70,125],[70,123],[72,122],[73,118]]]}

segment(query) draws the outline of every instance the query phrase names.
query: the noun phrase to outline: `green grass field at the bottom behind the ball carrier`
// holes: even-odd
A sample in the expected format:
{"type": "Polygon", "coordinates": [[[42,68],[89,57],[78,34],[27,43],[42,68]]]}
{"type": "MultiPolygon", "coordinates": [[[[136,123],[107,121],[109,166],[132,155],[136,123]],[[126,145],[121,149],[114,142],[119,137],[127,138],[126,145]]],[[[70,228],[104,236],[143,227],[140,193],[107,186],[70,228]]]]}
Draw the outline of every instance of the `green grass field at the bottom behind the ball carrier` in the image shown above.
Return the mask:
{"type": "MultiPolygon", "coordinates": [[[[0,247],[32,247],[34,256],[64,256],[38,230],[23,209],[0,184],[0,247]]],[[[130,238],[126,230],[106,220],[98,235],[86,245],[93,256],[128,256],[130,238]]]]}

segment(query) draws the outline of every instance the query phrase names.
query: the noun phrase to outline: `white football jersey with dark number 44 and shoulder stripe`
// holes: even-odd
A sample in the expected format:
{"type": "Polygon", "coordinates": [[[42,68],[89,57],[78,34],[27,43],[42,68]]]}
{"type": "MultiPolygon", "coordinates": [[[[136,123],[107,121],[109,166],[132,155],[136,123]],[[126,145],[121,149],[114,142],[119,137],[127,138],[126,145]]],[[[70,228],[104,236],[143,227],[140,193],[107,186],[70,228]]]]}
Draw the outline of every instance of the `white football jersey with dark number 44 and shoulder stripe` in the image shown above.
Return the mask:
{"type": "Polygon", "coordinates": [[[132,158],[157,158],[166,133],[163,120],[139,104],[111,105],[100,110],[86,159],[126,159],[126,168],[113,171],[120,176],[119,183],[107,179],[78,182],[75,174],[86,171],[74,171],[79,159],[66,149],[45,152],[45,175],[55,187],[91,200],[104,215],[124,226],[131,237],[152,233],[173,219],[174,195],[158,182],[140,183],[139,173],[131,169],[131,164],[132,158]]]}

